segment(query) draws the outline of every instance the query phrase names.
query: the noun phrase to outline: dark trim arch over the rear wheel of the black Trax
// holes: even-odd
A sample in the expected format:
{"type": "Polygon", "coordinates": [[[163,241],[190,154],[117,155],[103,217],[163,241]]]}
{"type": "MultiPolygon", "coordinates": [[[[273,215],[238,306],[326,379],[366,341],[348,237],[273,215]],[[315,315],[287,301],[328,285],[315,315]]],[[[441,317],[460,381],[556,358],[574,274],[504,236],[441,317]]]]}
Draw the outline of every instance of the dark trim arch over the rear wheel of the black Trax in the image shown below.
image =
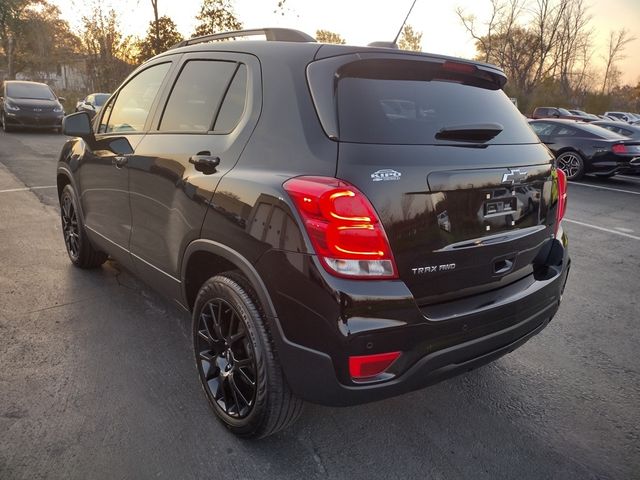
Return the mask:
{"type": "Polygon", "coordinates": [[[264,313],[275,318],[271,297],[252,262],[226,245],[205,239],[191,242],[183,255],[182,296],[189,311],[193,310],[202,284],[212,276],[229,270],[239,270],[246,277],[254,288],[264,313]]]}

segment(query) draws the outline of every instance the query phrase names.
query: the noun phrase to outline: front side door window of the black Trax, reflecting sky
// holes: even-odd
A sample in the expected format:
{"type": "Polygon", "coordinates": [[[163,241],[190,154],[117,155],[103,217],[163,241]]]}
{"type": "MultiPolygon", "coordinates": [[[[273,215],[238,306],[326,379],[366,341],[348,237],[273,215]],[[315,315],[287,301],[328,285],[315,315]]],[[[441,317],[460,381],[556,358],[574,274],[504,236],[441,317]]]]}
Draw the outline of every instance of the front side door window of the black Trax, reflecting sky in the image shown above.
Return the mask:
{"type": "Polygon", "coordinates": [[[108,132],[140,132],[149,116],[153,100],[158,94],[164,77],[169,71],[170,63],[154,65],[136,75],[118,92],[115,103],[105,113],[109,115],[106,130],[101,125],[100,131],[108,132]]]}

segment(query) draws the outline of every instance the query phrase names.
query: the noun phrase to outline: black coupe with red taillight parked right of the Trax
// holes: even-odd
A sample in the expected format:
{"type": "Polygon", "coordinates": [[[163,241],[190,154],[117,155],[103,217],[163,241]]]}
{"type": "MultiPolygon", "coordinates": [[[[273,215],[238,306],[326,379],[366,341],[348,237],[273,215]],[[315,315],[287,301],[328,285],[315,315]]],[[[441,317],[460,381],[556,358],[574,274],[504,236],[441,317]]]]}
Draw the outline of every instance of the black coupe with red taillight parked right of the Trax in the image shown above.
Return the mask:
{"type": "Polygon", "coordinates": [[[585,173],[611,177],[640,172],[640,141],[572,120],[530,120],[529,125],[569,180],[579,180],[585,173]]]}

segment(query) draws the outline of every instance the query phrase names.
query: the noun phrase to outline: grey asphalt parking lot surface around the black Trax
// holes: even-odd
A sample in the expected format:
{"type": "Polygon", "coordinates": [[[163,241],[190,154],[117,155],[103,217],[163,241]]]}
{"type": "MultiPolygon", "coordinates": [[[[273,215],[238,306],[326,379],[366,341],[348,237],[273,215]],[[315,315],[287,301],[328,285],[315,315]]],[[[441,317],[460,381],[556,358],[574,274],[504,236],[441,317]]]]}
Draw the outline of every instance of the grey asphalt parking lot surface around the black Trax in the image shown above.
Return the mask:
{"type": "Polygon", "coordinates": [[[524,347],[251,442],[209,411],[187,315],[68,261],[63,142],[0,132],[0,478],[640,478],[640,177],[570,184],[564,302],[524,347]]]}

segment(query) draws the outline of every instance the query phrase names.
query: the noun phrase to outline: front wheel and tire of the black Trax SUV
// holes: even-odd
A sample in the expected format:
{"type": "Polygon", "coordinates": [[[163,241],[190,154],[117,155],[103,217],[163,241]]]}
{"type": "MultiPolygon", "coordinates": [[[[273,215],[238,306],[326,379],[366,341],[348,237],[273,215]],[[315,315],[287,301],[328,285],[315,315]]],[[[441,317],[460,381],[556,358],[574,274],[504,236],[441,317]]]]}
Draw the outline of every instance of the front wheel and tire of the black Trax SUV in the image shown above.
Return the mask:
{"type": "Polygon", "coordinates": [[[107,260],[107,255],[96,250],[87,237],[76,193],[71,185],[65,186],[60,195],[60,219],[71,263],[79,268],[96,268],[107,260]]]}

